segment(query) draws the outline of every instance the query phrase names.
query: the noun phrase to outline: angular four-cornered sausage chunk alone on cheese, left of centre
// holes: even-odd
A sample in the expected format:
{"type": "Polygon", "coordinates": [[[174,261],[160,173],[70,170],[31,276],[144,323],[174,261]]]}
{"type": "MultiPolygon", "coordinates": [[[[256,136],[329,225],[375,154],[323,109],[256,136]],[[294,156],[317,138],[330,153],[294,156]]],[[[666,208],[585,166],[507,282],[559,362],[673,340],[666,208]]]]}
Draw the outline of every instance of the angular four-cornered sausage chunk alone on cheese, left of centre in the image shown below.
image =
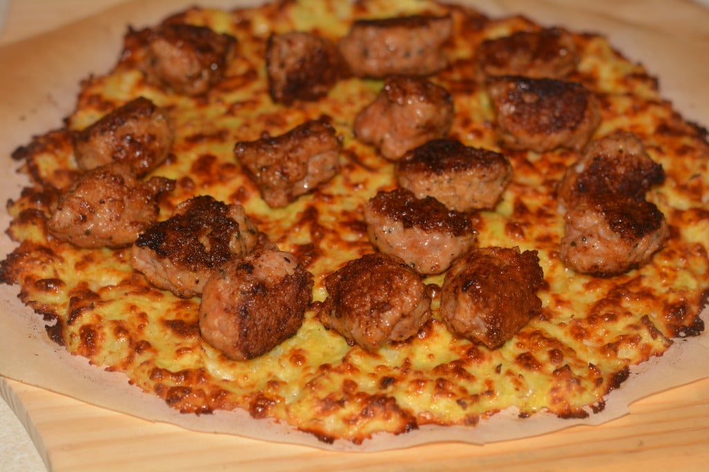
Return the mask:
{"type": "Polygon", "coordinates": [[[236,158],[272,208],[295,201],[340,172],[341,142],[325,118],[277,137],[237,142],[236,158]]]}

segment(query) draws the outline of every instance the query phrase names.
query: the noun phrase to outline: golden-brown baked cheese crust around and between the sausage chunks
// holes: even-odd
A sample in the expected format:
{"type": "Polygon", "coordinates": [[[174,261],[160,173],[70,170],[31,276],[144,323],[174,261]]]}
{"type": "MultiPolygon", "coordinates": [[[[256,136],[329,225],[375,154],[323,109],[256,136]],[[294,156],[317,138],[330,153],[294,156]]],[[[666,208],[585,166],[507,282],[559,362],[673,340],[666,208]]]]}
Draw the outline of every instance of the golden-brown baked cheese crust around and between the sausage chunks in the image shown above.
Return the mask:
{"type": "MultiPolygon", "coordinates": [[[[128,35],[111,73],[83,82],[67,129],[37,137],[13,155],[33,184],[8,206],[9,234],[18,247],[2,262],[1,281],[18,285],[23,302],[48,320],[55,342],[96,366],[124,372],[183,412],[242,408],[323,441],[360,443],[376,432],[399,434],[421,425],[484,427],[486,417],[509,407],[523,417],[542,411],[585,417],[603,409],[605,395],[625,381],[630,366],[660,356],[673,338],[704,330],[698,313],[709,298],[709,145],[705,131],[660,99],[653,77],[598,35],[571,33],[579,62],[568,79],[598,99],[596,137],[632,131],[662,165],[666,181],[647,199],[666,215],[671,237],[639,270],[597,278],[565,269],[557,252],[563,215],[554,192],[576,160],[574,152],[506,153],[513,181],[496,208],[470,215],[477,245],[537,251],[547,287],[539,292],[539,315],[499,349],[451,335],[435,298],[432,319],[418,335],[377,352],[350,347],[308,310],[294,337],[256,359],[230,361],[199,335],[199,298],[151,286],[131,269],[130,249],[77,249],[48,237],[57,189],[79,174],[71,131],[145,96],[169,111],[175,131],[171,156],[150,174],[176,181],[161,200],[161,218],[199,194],[244,206],[259,231],[306,264],[314,275],[313,300],[322,302],[325,276],[374,251],[362,206],[377,191],[396,188],[393,165],[352,133],[354,117],[382,83],[346,79],[319,101],[294,108],[273,103],[264,66],[267,40],[305,30],[337,41],[354,18],[419,13],[452,18],[454,32],[443,48],[450,67],[430,77],[452,94],[451,137],[499,152],[489,99],[473,84],[474,51],[483,40],[534,29],[525,18],[490,19],[459,6],[411,0],[190,9],[170,21],[236,38],[223,79],[199,97],[152,86],[135,68],[140,40],[128,35]],[[256,140],[264,131],[280,135],[323,115],[342,136],[342,171],[288,206],[269,208],[235,161],[234,143],[256,140]]],[[[440,286],[442,277],[427,283],[440,286]]]]}

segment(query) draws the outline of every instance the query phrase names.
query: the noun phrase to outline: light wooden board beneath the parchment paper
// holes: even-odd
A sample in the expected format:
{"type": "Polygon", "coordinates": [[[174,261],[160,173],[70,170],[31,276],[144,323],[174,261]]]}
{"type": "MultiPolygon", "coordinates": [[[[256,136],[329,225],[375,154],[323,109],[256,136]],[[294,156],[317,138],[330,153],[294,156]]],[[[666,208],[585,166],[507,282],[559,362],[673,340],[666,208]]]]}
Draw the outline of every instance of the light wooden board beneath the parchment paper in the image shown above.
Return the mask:
{"type": "MultiPolygon", "coordinates": [[[[0,46],[89,16],[121,1],[125,0],[13,0],[6,12],[0,46]]],[[[621,4],[635,7],[637,11],[638,1],[608,2],[609,6],[611,4],[609,15],[620,11],[615,6],[621,4]]],[[[671,12],[673,2],[666,4],[671,12]]],[[[671,18],[641,16],[635,19],[660,28],[671,18]]],[[[703,27],[704,33],[709,33],[709,26],[704,24],[703,27]]],[[[674,33],[681,35],[687,31],[679,28],[674,33]]],[[[709,468],[709,378],[640,400],[631,405],[630,415],[597,427],[571,427],[540,437],[485,446],[445,443],[372,454],[324,452],[304,446],[189,432],[173,425],[155,424],[96,408],[4,378],[0,378],[0,391],[29,432],[28,437],[18,433],[13,444],[0,445],[0,455],[7,456],[9,447],[13,450],[33,447],[31,437],[52,471],[125,471],[130,468],[146,471],[258,469],[265,472],[335,468],[338,471],[608,472],[630,468],[682,471],[709,468]]],[[[0,427],[14,427],[16,422],[12,417],[0,417],[0,427]]],[[[33,467],[41,466],[37,465],[35,457],[27,460],[29,462],[23,466],[6,465],[16,467],[9,468],[8,472],[28,470],[28,463],[33,467]]]]}

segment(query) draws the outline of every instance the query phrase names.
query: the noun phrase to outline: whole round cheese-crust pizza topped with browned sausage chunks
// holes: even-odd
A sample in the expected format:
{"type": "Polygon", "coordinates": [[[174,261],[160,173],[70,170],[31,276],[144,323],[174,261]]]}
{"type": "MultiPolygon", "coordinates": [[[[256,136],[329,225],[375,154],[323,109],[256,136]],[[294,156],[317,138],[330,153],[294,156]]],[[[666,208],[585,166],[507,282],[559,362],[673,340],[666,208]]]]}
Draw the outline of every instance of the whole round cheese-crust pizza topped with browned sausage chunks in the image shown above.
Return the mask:
{"type": "Polygon", "coordinates": [[[601,35],[432,0],[194,7],[129,28],[12,157],[1,281],[185,414],[354,444],[585,418],[703,336],[706,130],[601,35]]]}

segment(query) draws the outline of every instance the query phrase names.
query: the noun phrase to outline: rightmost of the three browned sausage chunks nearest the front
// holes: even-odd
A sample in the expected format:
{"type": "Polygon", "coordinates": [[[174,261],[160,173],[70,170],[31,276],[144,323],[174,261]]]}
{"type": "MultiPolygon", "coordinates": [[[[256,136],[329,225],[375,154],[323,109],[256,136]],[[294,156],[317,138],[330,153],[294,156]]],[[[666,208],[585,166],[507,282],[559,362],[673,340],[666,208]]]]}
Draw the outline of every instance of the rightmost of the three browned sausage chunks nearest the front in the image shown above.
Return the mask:
{"type": "Polygon", "coordinates": [[[495,349],[540,312],[537,290],[542,286],[536,251],[473,249],[446,274],[440,315],[454,334],[495,349]]]}

